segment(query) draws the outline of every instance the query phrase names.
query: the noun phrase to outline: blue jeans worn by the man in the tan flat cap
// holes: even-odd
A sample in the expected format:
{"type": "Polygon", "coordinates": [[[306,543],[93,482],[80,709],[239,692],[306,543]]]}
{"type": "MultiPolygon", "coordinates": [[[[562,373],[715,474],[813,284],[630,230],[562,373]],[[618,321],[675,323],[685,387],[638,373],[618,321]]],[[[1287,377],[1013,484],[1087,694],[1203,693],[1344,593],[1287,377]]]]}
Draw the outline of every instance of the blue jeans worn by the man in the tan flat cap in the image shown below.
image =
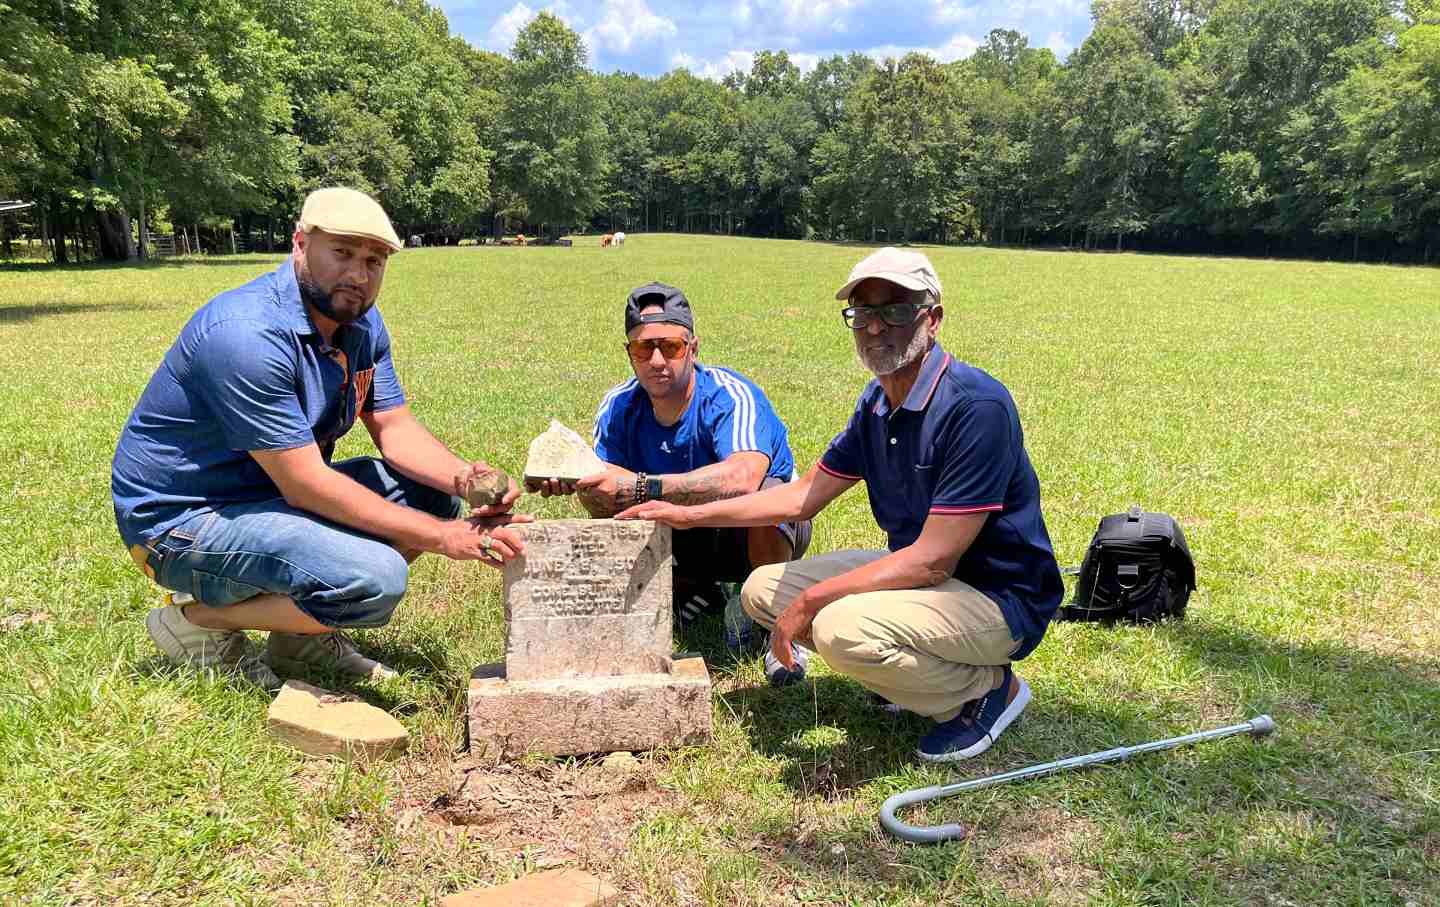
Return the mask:
{"type": "MultiPolygon", "coordinates": [[[[420,485],[383,461],[331,464],[387,501],[442,520],[455,495],[420,485]]],[[[405,596],[409,564],[387,541],[297,510],[284,498],[226,504],[150,541],[156,582],[223,608],[279,593],[325,626],[383,626],[405,596]]]]}

